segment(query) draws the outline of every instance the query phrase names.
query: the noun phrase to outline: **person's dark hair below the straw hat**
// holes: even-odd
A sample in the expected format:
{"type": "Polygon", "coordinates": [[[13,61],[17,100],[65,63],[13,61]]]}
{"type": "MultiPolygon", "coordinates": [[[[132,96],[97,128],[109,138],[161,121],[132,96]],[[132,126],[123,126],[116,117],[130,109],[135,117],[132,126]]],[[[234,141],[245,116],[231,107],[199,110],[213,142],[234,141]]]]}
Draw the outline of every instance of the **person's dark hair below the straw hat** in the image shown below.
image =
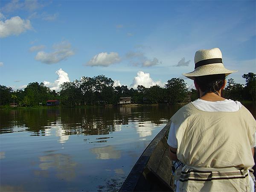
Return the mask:
{"type": "Polygon", "coordinates": [[[216,74],[216,75],[208,75],[208,76],[198,76],[195,77],[195,82],[198,84],[200,90],[204,93],[212,92],[218,95],[218,90],[225,83],[225,74],[216,74]]]}

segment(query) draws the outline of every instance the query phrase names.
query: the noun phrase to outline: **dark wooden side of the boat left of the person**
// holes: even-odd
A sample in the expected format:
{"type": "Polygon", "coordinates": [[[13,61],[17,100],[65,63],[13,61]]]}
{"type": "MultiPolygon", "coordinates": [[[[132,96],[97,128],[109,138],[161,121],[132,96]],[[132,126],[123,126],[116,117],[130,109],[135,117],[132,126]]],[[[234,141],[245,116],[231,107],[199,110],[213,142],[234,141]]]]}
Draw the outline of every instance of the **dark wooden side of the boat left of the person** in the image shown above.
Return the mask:
{"type": "Polygon", "coordinates": [[[174,191],[172,160],[169,157],[168,123],[148,145],[120,191],[174,191]]]}

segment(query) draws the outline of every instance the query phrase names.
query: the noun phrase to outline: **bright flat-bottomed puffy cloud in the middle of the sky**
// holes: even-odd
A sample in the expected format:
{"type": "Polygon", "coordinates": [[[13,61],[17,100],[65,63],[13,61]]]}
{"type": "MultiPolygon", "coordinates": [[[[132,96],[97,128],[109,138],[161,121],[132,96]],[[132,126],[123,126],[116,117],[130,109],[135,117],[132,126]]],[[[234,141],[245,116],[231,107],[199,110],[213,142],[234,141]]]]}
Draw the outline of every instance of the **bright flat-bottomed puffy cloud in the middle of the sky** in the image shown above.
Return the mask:
{"type": "Polygon", "coordinates": [[[89,66],[103,66],[108,67],[111,64],[118,63],[121,61],[117,52],[101,52],[95,55],[90,61],[87,62],[89,66]]]}

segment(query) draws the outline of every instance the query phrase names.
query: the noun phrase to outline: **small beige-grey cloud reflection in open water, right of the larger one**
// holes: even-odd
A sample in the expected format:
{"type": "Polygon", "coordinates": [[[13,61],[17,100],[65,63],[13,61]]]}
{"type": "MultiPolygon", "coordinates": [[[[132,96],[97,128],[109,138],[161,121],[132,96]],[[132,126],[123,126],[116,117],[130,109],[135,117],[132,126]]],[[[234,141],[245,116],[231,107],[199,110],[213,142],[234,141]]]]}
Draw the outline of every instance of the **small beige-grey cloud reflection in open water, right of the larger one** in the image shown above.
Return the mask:
{"type": "Polygon", "coordinates": [[[96,159],[119,159],[121,157],[121,151],[116,150],[113,145],[92,148],[91,151],[97,155],[96,159]]]}

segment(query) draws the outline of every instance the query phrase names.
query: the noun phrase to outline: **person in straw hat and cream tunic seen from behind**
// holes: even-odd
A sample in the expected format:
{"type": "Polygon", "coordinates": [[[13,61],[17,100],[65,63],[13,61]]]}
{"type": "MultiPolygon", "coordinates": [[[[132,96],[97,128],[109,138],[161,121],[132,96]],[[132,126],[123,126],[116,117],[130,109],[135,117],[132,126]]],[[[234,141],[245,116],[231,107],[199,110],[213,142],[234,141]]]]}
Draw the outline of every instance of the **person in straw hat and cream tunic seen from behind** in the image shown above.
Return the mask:
{"type": "Polygon", "coordinates": [[[194,80],[200,99],[180,108],[171,120],[169,151],[177,192],[253,192],[251,169],[256,146],[256,121],[238,101],[221,91],[227,70],[218,48],[195,53],[194,80]]]}

